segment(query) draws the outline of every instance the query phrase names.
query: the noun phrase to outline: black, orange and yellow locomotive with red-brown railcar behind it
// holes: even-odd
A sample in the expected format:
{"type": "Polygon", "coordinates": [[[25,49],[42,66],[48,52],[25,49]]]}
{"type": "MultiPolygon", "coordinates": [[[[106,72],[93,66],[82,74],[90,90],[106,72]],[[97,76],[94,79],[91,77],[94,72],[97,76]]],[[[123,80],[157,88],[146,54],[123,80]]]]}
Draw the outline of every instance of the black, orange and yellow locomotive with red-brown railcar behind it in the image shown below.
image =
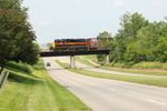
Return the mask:
{"type": "Polygon", "coordinates": [[[106,39],[56,39],[50,46],[52,51],[86,51],[86,50],[97,50],[99,46],[101,48],[106,47],[106,39]]]}

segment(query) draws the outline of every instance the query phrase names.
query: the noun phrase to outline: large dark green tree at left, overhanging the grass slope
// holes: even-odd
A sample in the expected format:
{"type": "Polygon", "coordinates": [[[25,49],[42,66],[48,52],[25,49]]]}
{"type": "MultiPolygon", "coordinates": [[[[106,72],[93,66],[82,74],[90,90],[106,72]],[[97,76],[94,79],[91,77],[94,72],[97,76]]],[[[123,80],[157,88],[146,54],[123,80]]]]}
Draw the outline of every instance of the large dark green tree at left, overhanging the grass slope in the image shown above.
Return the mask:
{"type": "Polygon", "coordinates": [[[9,61],[35,64],[39,47],[22,0],[0,0],[0,72],[9,61]]]}

